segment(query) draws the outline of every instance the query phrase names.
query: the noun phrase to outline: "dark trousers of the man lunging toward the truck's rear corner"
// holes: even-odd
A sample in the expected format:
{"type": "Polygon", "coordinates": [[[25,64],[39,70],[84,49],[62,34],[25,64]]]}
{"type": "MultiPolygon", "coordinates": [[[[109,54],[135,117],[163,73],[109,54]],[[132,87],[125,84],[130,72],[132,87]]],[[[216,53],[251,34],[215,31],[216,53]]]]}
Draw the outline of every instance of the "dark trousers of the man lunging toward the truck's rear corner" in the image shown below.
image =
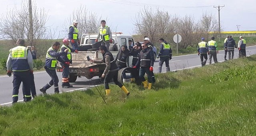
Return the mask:
{"type": "Polygon", "coordinates": [[[49,68],[46,68],[44,67],[47,74],[52,78],[46,85],[44,85],[43,89],[44,90],[47,90],[49,89],[52,85],[54,85],[54,92],[59,92],[59,86],[58,86],[58,83],[59,83],[59,79],[58,79],[58,76],[57,76],[57,73],[56,73],[56,70],[55,69],[49,69],[49,68]]]}

